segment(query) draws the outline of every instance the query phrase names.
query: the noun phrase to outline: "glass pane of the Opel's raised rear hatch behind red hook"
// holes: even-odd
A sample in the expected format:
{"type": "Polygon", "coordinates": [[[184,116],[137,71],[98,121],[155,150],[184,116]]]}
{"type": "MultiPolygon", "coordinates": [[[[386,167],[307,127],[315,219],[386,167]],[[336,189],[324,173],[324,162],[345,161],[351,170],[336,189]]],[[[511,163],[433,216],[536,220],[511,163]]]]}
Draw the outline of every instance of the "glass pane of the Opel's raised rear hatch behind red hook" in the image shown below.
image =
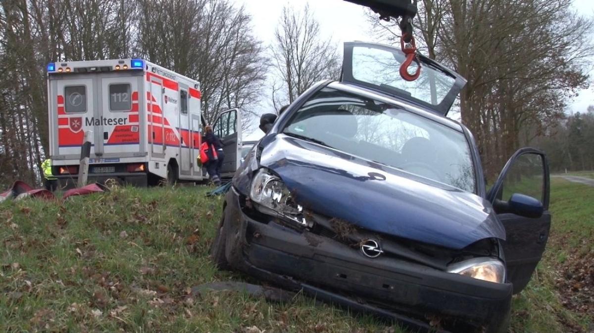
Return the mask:
{"type": "MultiPolygon", "coordinates": [[[[419,100],[430,105],[440,105],[454,87],[456,79],[429,65],[422,66],[415,81],[405,81],[400,76],[400,65],[405,61],[400,50],[355,46],[352,52],[353,79],[375,85],[387,92],[419,100]]],[[[418,65],[413,62],[409,72],[418,65]]],[[[457,92],[456,92],[457,94],[457,92]]]]}

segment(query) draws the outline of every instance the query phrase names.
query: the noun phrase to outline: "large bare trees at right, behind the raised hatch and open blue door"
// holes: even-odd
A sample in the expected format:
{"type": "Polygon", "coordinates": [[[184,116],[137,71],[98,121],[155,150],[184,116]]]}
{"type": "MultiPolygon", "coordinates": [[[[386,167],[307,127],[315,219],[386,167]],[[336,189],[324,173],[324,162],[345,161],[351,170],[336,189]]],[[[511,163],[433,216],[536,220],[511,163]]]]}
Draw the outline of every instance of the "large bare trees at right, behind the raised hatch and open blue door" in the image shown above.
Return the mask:
{"type": "MultiPolygon", "coordinates": [[[[462,122],[475,133],[494,175],[520,144],[522,129],[540,135],[576,89],[586,86],[593,21],[571,0],[422,0],[416,28],[430,57],[467,79],[462,122]],[[495,135],[496,134],[496,135],[495,135]]],[[[381,36],[399,41],[394,23],[374,19],[381,36]]]]}

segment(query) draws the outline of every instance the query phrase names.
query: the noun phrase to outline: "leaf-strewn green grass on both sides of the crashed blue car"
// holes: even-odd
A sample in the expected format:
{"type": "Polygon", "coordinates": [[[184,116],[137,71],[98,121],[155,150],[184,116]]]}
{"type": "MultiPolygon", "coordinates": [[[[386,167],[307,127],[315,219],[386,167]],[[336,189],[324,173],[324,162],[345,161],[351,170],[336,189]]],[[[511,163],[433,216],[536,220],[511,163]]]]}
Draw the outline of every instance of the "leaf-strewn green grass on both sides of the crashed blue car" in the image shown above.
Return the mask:
{"type": "MultiPolygon", "coordinates": [[[[552,189],[551,239],[538,273],[514,297],[513,332],[592,328],[591,318],[561,305],[554,281],[571,249],[592,247],[594,188],[555,178],[552,189]]],[[[394,329],[302,296],[276,304],[242,293],[189,293],[198,284],[245,278],[208,260],[222,198],[205,197],[207,190],[116,188],[65,203],[0,204],[0,331],[394,329]]]]}

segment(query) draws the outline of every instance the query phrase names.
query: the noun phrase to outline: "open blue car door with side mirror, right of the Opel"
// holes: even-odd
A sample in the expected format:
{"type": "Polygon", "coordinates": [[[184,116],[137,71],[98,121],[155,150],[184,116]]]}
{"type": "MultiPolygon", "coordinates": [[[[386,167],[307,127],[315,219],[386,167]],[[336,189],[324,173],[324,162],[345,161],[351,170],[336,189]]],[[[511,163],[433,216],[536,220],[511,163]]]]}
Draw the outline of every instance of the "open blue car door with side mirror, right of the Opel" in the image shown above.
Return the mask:
{"type": "Polygon", "coordinates": [[[534,148],[514,153],[488,197],[505,228],[507,281],[513,283],[514,294],[519,293],[542,258],[551,228],[545,153],[534,148]]]}

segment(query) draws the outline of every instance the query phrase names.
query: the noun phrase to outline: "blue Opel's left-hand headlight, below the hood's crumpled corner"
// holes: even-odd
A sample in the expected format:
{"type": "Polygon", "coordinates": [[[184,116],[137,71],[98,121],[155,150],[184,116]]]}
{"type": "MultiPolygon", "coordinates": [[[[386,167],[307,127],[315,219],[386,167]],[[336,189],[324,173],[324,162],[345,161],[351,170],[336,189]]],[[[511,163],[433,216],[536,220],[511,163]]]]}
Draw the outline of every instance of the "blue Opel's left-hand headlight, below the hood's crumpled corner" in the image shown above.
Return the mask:
{"type": "Polygon", "coordinates": [[[262,213],[311,227],[310,223],[305,221],[303,207],[293,201],[293,196],[285,183],[276,175],[270,174],[267,169],[260,169],[255,175],[249,197],[262,213]]]}

